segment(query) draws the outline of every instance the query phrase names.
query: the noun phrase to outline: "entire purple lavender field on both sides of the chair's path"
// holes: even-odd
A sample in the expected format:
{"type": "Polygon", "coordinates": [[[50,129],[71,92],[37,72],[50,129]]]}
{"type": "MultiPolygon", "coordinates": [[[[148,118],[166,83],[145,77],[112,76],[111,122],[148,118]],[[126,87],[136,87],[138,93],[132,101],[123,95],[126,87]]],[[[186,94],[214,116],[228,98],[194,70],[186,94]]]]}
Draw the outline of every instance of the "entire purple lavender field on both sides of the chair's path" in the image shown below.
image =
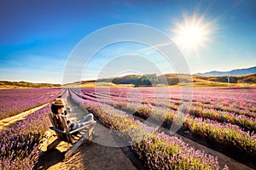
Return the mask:
{"type": "MultiPolygon", "coordinates": [[[[183,122],[177,133],[204,139],[207,147],[212,144],[213,149],[214,145],[221,145],[223,150],[218,151],[225,154],[225,150],[232,150],[234,155],[247,157],[248,161],[241,163],[256,167],[252,161],[256,158],[255,88],[194,88],[192,98],[190,94],[181,95],[179,88],[168,88],[168,94],[161,88],[16,89],[0,93],[1,98],[8,99],[0,104],[4,117],[60,95],[72,99],[126,139],[148,169],[229,169],[219,165],[218,156],[196,150],[183,139],[161,130],[169,129],[179,118],[183,122]],[[181,107],[189,99],[191,105],[181,107]],[[15,111],[8,110],[9,103],[17,105],[15,111]],[[18,108],[18,104],[26,106],[18,108]],[[179,117],[180,112],[185,116],[179,117]],[[160,128],[145,123],[148,117],[151,122],[160,122],[160,128]]],[[[49,111],[47,105],[0,132],[0,169],[34,167],[40,152],[38,145],[49,130],[49,111]]]]}

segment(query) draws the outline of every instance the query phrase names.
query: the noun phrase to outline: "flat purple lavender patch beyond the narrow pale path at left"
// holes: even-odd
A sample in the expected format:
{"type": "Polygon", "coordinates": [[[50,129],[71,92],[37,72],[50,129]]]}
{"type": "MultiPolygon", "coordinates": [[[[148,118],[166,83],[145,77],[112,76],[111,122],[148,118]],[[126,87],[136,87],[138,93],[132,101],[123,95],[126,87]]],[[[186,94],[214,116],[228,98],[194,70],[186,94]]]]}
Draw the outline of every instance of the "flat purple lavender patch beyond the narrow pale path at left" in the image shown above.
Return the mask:
{"type": "Polygon", "coordinates": [[[0,120],[48,103],[61,95],[60,88],[0,90],[0,120]]]}

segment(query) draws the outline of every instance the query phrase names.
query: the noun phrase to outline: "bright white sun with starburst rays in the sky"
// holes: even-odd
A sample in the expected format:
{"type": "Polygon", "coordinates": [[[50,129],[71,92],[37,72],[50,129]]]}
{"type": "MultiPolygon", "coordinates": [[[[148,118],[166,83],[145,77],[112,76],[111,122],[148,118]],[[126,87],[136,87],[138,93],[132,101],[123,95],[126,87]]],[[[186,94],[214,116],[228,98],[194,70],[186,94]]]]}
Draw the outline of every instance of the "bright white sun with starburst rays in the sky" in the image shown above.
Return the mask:
{"type": "Polygon", "coordinates": [[[183,18],[183,23],[177,22],[177,28],[173,30],[176,34],[174,42],[182,50],[197,51],[197,48],[204,46],[210,40],[211,23],[204,23],[204,17],[197,18],[195,14],[190,18],[187,16],[183,18]]]}

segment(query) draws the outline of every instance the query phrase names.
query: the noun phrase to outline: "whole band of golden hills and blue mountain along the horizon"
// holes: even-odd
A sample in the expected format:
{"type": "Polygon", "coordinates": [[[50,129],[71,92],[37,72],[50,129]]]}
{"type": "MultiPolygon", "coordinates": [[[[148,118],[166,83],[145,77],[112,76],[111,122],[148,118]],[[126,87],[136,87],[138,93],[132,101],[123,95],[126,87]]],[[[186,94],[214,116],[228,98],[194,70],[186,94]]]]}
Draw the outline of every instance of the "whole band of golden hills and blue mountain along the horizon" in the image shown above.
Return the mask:
{"type": "MultiPolygon", "coordinates": [[[[181,85],[193,87],[256,87],[256,66],[247,69],[236,69],[225,72],[211,71],[207,73],[198,73],[195,75],[177,75],[175,73],[168,73],[160,76],[157,76],[156,74],[126,75],[124,77],[108,77],[98,80],[73,82],[64,85],[64,87],[136,88],[181,85]]],[[[0,81],[0,88],[61,88],[61,84],[0,81]]]]}

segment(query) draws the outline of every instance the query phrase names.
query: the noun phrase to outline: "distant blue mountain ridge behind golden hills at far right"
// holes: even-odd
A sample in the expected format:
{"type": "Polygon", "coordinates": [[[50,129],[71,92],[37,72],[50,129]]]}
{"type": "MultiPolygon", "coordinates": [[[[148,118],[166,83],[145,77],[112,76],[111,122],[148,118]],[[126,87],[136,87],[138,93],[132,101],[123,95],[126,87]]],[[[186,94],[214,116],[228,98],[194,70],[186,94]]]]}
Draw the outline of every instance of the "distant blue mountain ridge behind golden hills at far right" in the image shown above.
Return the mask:
{"type": "Polygon", "coordinates": [[[256,66],[247,69],[236,69],[232,71],[210,71],[205,73],[197,73],[195,75],[205,77],[221,77],[221,76],[242,76],[256,73],[256,66]]]}

